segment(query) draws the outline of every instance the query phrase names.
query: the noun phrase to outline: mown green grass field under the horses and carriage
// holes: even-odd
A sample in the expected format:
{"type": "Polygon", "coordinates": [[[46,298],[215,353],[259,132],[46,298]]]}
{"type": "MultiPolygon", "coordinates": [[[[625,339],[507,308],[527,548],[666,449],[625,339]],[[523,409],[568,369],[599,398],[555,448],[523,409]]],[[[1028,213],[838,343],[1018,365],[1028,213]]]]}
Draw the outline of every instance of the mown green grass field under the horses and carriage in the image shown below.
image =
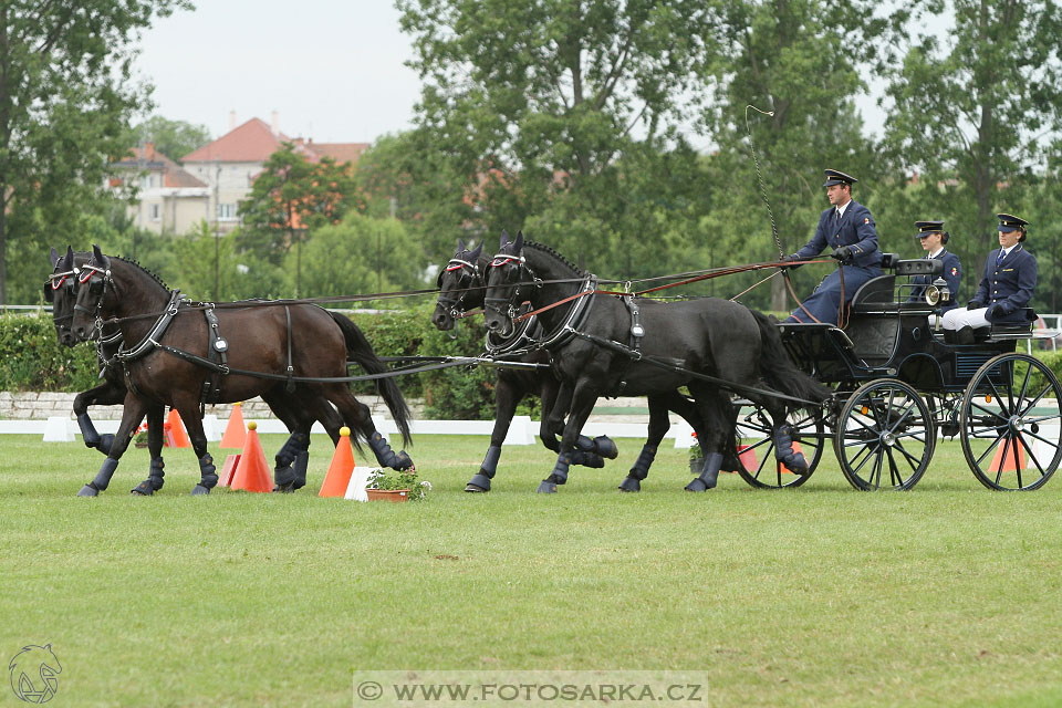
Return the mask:
{"type": "Polygon", "coordinates": [[[129,450],[80,499],[98,452],[2,446],[0,660],[51,643],[56,706],[350,706],[384,668],[694,670],[709,706],[1062,702],[1062,481],[992,493],[955,442],[904,493],[852,490],[827,449],[796,490],[689,494],[665,445],[621,494],[625,439],[554,496],[545,450],[506,448],[472,496],[486,438],[423,436],[435,490],[407,504],[316,498],[324,436],[293,496],[188,497],[194,455],[167,450],[132,498],[129,450]]]}

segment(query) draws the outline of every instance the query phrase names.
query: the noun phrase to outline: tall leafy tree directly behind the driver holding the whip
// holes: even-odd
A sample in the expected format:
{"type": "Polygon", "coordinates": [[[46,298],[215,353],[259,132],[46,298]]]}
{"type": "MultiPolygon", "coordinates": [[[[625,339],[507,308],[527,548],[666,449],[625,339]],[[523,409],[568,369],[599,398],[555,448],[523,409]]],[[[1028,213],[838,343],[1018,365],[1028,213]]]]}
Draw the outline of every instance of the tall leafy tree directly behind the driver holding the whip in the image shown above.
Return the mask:
{"type": "MultiPolygon", "coordinates": [[[[827,206],[824,168],[856,175],[854,196],[864,204],[865,187],[873,189],[883,177],[853,97],[865,90],[857,69],[873,61],[888,24],[875,19],[874,3],[862,0],[722,0],[714,20],[719,51],[707,73],[716,101],[702,124],[719,148],[708,162],[712,187],[727,198],[715,200],[704,223],[706,238],[715,241],[707,263],[777,260],[780,250],[793,252],[814,232],[827,206]],[[719,233],[741,237],[719,239],[719,233]]],[[[821,277],[809,273],[813,270],[795,275],[798,290],[810,292],[809,278],[821,277]]],[[[773,279],[772,310],[787,309],[783,285],[773,279]]],[[[746,301],[768,304],[759,293],[746,301]]]]}

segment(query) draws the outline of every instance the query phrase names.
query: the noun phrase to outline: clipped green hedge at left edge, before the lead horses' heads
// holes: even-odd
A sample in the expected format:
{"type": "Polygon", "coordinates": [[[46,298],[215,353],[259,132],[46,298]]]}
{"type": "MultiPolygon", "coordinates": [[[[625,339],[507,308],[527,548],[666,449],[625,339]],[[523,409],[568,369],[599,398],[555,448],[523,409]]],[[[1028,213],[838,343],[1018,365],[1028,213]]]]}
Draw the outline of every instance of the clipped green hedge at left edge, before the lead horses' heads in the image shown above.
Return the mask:
{"type": "Polygon", "coordinates": [[[62,346],[50,314],[0,316],[0,391],[84,391],[98,373],[95,348],[62,346]]]}

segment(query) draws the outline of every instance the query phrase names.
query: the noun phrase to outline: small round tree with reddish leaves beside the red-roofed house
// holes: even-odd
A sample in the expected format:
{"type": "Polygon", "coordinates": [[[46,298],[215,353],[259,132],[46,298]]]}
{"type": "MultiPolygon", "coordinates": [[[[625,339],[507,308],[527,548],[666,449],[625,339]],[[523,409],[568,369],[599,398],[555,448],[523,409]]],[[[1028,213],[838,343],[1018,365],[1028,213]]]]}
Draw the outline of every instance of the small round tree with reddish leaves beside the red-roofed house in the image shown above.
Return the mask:
{"type": "Polygon", "coordinates": [[[274,264],[294,247],[298,296],[305,233],[342,221],[356,197],[350,164],[336,165],[330,157],[311,163],[293,143],[284,143],[266,160],[250,196],[240,202],[241,244],[274,264]]]}

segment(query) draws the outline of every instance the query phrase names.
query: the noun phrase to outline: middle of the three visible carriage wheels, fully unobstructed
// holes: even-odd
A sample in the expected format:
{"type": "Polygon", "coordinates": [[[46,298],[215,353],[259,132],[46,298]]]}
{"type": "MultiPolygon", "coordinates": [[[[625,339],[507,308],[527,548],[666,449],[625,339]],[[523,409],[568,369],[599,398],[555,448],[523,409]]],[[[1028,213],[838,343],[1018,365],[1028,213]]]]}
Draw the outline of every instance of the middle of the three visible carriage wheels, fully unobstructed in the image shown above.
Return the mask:
{"type": "Polygon", "coordinates": [[[857,388],[837,416],[834,450],[858,490],[910,489],[936,444],[929,407],[907,384],[881,378],[857,388]]]}

